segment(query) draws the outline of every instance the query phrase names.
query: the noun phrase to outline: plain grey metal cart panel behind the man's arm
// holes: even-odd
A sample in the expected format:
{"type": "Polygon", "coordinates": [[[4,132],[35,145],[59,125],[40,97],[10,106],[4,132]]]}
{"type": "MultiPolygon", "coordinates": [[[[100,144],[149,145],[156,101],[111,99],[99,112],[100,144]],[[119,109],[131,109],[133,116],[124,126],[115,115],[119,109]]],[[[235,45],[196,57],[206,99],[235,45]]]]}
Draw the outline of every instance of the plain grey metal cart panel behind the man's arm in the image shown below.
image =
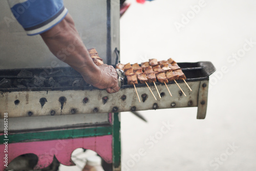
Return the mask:
{"type": "MultiPolygon", "coordinates": [[[[117,26],[108,30],[106,1],[64,0],[63,2],[74,19],[84,45],[87,48],[96,48],[106,63],[108,32],[112,32],[111,41],[116,39],[110,54],[114,53],[115,46],[119,47],[119,10],[111,9],[115,10],[112,11],[113,15],[118,13],[116,16],[118,20],[112,18],[110,25],[117,26]]],[[[7,1],[0,1],[0,16],[3,16],[0,17],[0,69],[53,67],[56,63],[58,66],[68,66],[49,51],[39,35],[27,36],[12,15],[7,1]]]]}

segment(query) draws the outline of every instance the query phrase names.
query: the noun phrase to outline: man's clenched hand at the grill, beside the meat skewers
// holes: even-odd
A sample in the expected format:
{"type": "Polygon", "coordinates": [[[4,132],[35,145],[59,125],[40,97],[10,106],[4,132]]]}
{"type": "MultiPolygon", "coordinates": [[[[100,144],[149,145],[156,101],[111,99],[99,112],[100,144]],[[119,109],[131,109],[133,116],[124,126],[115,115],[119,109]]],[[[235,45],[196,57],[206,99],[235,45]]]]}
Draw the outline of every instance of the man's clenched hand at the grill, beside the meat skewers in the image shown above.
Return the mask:
{"type": "Polygon", "coordinates": [[[100,74],[95,78],[98,79],[97,83],[92,86],[98,89],[106,89],[108,93],[116,93],[119,91],[117,73],[114,67],[103,64],[98,66],[100,74]]]}

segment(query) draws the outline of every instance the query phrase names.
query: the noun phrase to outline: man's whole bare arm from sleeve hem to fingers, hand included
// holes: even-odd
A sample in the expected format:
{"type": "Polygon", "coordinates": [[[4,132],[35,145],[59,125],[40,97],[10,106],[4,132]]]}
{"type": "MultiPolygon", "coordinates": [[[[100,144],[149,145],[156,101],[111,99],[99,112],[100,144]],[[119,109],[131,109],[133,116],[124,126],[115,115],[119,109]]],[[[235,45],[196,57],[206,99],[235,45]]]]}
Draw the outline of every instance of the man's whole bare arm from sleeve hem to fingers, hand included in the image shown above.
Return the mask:
{"type": "Polygon", "coordinates": [[[112,66],[96,66],[75,28],[73,18],[67,14],[59,24],[40,34],[50,51],[60,60],[78,71],[87,83],[108,93],[118,92],[117,73],[112,66]],[[60,52],[68,46],[75,47],[66,51],[63,58],[60,52]]]}

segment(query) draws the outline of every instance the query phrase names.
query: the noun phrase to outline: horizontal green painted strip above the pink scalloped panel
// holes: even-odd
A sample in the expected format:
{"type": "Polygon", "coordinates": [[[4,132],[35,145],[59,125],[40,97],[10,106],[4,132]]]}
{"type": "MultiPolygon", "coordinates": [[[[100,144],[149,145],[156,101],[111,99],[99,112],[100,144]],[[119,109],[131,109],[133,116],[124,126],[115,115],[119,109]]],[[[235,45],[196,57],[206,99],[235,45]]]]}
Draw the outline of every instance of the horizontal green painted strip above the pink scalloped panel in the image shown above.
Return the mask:
{"type": "MultiPolygon", "coordinates": [[[[24,141],[40,141],[54,139],[68,139],[80,137],[93,137],[102,135],[111,135],[112,126],[89,127],[83,129],[70,129],[58,131],[44,131],[34,133],[20,133],[8,135],[8,143],[24,142],[24,141]]],[[[4,143],[4,135],[0,136],[0,143],[4,143]]]]}

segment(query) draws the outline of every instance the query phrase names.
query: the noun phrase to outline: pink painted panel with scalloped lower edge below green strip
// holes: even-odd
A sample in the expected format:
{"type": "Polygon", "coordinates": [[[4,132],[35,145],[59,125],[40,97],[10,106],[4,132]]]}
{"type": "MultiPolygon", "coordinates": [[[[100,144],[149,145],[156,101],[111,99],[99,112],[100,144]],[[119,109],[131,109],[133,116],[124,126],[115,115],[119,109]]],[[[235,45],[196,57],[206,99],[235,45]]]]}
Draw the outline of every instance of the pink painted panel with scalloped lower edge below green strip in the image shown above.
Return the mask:
{"type": "MultiPolygon", "coordinates": [[[[0,158],[4,158],[4,144],[0,144],[0,158]]],[[[8,144],[8,163],[19,155],[33,153],[38,157],[35,169],[49,166],[54,155],[64,165],[74,165],[71,154],[76,148],[91,149],[98,153],[106,162],[112,163],[112,135],[62,139],[50,141],[19,142],[8,144]]],[[[1,160],[2,161],[2,160],[1,160]]],[[[3,162],[0,170],[4,170],[3,162]]]]}

